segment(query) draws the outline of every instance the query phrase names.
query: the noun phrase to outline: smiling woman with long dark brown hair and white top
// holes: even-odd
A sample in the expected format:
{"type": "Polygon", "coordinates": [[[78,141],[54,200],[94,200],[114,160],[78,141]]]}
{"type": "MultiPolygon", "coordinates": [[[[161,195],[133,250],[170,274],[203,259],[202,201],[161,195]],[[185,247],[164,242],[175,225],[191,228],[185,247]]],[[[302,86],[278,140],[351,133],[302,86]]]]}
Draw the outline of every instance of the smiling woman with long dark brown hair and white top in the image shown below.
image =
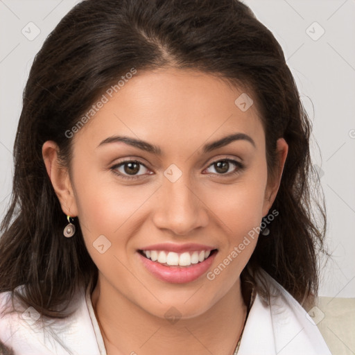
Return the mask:
{"type": "Polygon", "coordinates": [[[302,308],[324,236],[309,135],[243,3],[78,4],[24,92],[3,354],[330,354],[302,308]]]}

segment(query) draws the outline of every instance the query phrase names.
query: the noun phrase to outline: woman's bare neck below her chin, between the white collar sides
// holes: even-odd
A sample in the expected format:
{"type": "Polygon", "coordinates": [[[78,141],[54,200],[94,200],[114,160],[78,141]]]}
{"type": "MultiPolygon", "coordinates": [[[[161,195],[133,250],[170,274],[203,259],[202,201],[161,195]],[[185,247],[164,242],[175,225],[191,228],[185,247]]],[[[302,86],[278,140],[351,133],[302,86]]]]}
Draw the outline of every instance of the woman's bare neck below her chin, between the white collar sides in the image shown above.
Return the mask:
{"type": "Polygon", "coordinates": [[[167,322],[152,315],[100,277],[92,305],[107,355],[232,355],[247,313],[240,279],[205,313],[189,319],[167,322]]]}

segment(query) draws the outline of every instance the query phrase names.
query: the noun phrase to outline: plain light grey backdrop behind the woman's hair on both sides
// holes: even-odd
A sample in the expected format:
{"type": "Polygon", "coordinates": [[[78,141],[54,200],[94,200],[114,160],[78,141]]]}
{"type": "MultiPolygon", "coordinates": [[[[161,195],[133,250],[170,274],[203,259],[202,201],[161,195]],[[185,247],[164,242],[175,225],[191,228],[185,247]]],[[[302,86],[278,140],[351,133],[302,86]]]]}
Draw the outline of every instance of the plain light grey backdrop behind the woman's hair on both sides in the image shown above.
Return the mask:
{"type": "MultiPolygon", "coordinates": [[[[1,218],[10,198],[12,146],[29,69],[46,36],[78,2],[0,0],[1,218]]],[[[313,163],[327,201],[332,254],[320,295],[355,297],[355,1],[244,2],[282,45],[313,121],[313,163]]]]}

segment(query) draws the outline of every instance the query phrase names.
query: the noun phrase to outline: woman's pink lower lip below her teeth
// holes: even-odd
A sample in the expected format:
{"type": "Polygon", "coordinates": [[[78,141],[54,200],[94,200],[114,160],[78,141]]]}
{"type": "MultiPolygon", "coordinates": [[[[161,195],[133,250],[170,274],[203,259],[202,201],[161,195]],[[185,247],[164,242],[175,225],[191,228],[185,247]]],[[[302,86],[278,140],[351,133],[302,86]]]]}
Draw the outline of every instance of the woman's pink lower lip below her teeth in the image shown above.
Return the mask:
{"type": "Polygon", "coordinates": [[[151,261],[139,252],[137,254],[146,269],[157,277],[157,279],[164,282],[170,282],[171,284],[186,284],[187,282],[192,282],[198,279],[198,277],[207,272],[211,263],[213,263],[217,252],[215,251],[210,257],[205,259],[205,261],[191,264],[191,266],[165,266],[157,261],[151,261]]]}

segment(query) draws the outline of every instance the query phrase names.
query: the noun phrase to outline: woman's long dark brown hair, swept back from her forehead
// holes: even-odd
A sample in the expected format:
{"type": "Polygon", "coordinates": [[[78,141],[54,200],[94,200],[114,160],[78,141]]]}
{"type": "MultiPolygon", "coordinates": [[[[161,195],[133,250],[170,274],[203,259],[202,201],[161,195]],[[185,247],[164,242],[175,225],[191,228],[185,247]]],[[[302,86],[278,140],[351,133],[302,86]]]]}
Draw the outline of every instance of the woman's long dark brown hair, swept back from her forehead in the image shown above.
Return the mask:
{"type": "MultiPolygon", "coordinates": [[[[65,132],[132,67],[213,73],[254,92],[270,174],[279,137],[289,150],[272,205],[279,216],[268,225],[270,235],[259,238],[249,266],[265,269],[300,302],[316,295],[326,223],[324,202],[312,204],[319,181],[311,170],[311,124],[277,40],[236,0],[85,0],[47,37],[24,90],[12,201],[1,225],[0,291],[12,291],[43,315],[63,317],[76,288],[96,282],[80,223],[75,238],[63,237],[67,220],[42,145],[55,141],[70,167],[73,139],[65,132]]],[[[252,281],[252,272],[242,275],[252,281]]]]}

